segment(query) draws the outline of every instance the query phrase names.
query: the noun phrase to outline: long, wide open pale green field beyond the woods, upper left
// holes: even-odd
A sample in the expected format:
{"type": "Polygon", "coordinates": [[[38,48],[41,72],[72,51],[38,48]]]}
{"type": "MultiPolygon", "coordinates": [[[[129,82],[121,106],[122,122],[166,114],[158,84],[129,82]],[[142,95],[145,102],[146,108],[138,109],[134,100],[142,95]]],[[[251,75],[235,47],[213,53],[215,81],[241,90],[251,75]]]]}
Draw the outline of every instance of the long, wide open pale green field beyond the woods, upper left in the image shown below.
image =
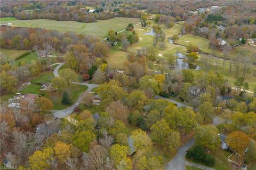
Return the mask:
{"type": "Polygon", "coordinates": [[[85,34],[103,38],[107,36],[108,30],[121,31],[129,23],[139,23],[138,18],[113,18],[108,20],[97,20],[98,22],[83,23],[77,21],[56,21],[56,20],[1,20],[1,23],[11,22],[12,26],[55,29],[61,32],[75,31],[77,34],[85,34]]]}

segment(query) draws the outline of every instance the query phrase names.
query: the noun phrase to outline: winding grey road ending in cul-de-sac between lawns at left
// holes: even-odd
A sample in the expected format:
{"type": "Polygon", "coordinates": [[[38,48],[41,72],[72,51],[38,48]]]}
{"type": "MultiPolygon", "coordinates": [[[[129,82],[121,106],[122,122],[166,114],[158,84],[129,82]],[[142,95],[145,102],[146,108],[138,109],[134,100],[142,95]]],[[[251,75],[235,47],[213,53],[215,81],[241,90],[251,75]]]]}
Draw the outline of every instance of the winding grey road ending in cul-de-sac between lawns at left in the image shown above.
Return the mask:
{"type": "MultiPolygon", "coordinates": [[[[60,63],[59,66],[55,67],[55,69],[53,70],[53,75],[55,77],[59,77],[60,76],[59,75],[59,69],[60,69],[61,66],[63,66],[63,64],[65,64],[65,63],[60,63]]],[[[72,82],[72,83],[87,86],[88,88],[86,89],[86,91],[84,93],[90,92],[92,90],[92,88],[99,86],[98,84],[78,83],[78,82],[72,82]]],[[[53,114],[53,116],[55,118],[63,118],[63,117],[66,117],[66,116],[72,114],[72,112],[75,110],[75,104],[76,103],[80,103],[83,100],[83,94],[81,94],[79,96],[77,101],[72,106],[68,107],[67,109],[63,109],[63,110],[59,110],[59,111],[55,112],[53,114]]]]}

